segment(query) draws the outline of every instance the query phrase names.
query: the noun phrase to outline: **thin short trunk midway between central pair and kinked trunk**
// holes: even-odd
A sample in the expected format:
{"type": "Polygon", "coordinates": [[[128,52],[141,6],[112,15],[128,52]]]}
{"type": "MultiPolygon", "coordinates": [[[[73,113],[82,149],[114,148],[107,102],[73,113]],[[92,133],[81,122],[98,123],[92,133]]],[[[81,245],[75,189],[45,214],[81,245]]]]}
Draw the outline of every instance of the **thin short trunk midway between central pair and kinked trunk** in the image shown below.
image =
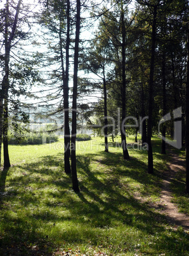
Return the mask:
{"type": "Polygon", "coordinates": [[[104,118],[105,118],[105,152],[108,152],[108,119],[107,119],[107,83],[103,69],[104,118]]]}

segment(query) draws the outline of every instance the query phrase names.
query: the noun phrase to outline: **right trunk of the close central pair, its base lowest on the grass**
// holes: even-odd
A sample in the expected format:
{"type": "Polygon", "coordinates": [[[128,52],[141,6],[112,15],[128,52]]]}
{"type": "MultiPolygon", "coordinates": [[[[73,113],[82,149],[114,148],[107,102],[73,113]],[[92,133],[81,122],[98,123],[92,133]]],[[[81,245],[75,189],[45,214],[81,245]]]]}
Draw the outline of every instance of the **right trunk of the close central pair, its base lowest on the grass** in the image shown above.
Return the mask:
{"type": "Polygon", "coordinates": [[[73,102],[72,102],[72,138],[71,138],[71,161],[72,161],[72,187],[75,192],[79,192],[79,184],[77,180],[76,167],[76,148],[75,139],[77,133],[77,72],[78,72],[78,58],[79,58],[79,31],[80,31],[80,12],[81,3],[77,0],[77,18],[75,31],[75,52],[74,52],[74,85],[73,85],[73,102]]]}

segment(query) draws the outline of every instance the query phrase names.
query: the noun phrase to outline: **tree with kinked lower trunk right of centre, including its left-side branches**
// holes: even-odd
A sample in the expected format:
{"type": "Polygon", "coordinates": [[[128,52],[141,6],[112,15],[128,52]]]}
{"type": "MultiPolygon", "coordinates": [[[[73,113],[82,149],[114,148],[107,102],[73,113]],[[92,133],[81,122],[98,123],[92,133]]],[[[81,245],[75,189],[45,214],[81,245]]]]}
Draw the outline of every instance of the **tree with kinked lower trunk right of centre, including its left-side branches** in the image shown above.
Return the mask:
{"type": "MultiPolygon", "coordinates": [[[[113,73],[109,76],[114,77],[112,86],[114,86],[114,98],[117,98],[118,107],[121,107],[121,140],[124,159],[129,160],[129,153],[126,143],[126,48],[128,46],[127,39],[129,36],[129,27],[132,22],[127,22],[127,1],[116,1],[114,11],[104,11],[101,19],[101,29],[105,37],[109,37],[109,48],[112,51],[112,64],[114,64],[113,73]],[[127,32],[126,32],[127,26],[127,32]]],[[[101,37],[103,41],[103,37],[101,37]]]]}

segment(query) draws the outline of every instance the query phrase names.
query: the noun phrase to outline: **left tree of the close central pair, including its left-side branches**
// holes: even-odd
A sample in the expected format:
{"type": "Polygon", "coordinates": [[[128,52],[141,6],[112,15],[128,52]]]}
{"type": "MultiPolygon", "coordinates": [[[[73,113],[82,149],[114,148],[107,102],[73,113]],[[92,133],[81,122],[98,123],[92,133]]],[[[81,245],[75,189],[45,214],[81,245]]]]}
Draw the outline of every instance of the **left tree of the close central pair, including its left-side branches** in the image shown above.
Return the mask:
{"type": "MultiPolygon", "coordinates": [[[[51,3],[44,1],[44,11],[40,22],[51,32],[53,37],[48,34],[48,50],[51,52],[49,57],[44,54],[47,66],[52,64],[50,73],[51,82],[48,85],[56,84],[56,92],[50,92],[49,97],[60,99],[58,108],[52,111],[64,111],[64,167],[65,173],[71,173],[70,169],[70,117],[69,117],[69,66],[70,66],[70,30],[72,29],[72,17],[70,13],[70,0],[55,0],[51,3]],[[66,32],[65,32],[66,30],[66,32]],[[50,40],[51,39],[51,40],[50,40]],[[61,68],[60,68],[61,67],[61,68]],[[60,97],[62,94],[62,97],[60,97]],[[62,104],[63,99],[63,104],[62,104]]],[[[52,90],[53,91],[53,90],[52,90]]]]}

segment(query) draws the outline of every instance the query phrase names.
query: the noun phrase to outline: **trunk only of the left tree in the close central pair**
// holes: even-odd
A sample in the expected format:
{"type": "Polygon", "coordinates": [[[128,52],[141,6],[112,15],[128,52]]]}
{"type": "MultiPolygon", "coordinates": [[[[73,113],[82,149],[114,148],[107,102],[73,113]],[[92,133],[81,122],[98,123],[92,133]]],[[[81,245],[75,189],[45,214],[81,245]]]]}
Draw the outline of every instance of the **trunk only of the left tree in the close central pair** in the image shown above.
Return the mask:
{"type": "MultiPolygon", "coordinates": [[[[63,108],[64,108],[64,167],[65,173],[71,173],[70,168],[70,126],[69,126],[69,47],[70,47],[70,0],[67,0],[67,41],[66,68],[63,78],[63,108]]],[[[62,53],[63,61],[63,53],[62,53]]]]}

